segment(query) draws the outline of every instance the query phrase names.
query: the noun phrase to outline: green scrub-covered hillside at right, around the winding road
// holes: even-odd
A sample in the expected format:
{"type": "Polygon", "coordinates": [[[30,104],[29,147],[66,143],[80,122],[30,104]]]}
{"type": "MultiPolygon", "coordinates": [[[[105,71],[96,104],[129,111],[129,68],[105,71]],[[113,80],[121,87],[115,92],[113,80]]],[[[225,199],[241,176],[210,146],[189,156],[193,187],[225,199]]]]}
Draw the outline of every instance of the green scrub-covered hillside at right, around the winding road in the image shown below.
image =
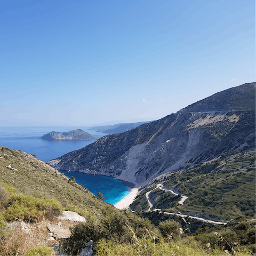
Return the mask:
{"type": "Polygon", "coordinates": [[[165,173],[142,186],[130,207],[137,212],[148,210],[146,193],[151,191],[151,210],[218,220],[254,216],[255,153],[255,148],[231,151],[213,161],[165,173]],[[156,188],[159,183],[164,189],[156,188]],[[183,204],[181,195],[186,196],[183,204]]]}

